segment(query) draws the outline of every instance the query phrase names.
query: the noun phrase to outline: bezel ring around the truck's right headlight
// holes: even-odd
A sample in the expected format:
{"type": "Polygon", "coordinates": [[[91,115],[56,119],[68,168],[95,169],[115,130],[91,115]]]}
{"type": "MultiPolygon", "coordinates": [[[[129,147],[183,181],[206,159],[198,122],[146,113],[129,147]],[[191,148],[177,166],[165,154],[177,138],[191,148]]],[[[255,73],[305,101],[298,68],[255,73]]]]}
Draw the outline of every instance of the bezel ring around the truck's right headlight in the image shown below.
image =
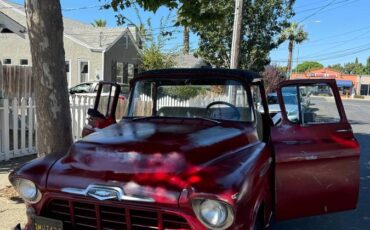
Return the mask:
{"type": "Polygon", "coordinates": [[[192,200],[192,207],[194,210],[195,215],[197,216],[198,220],[206,226],[208,229],[212,230],[223,230],[229,228],[234,223],[234,211],[231,205],[228,203],[216,200],[216,199],[202,199],[202,198],[196,198],[192,200]],[[201,207],[202,204],[205,202],[215,202],[217,205],[220,205],[225,209],[226,217],[225,220],[222,223],[219,223],[217,225],[213,225],[212,223],[208,222],[201,214],[201,207]]]}

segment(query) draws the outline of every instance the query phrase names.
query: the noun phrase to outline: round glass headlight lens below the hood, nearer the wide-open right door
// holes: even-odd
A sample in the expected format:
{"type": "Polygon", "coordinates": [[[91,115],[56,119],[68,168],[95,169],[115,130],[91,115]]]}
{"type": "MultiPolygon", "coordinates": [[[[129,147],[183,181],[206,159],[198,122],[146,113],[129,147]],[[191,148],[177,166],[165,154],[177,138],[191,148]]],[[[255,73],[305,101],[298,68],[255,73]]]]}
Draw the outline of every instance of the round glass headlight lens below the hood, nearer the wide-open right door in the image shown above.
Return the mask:
{"type": "Polygon", "coordinates": [[[212,226],[220,226],[226,220],[227,209],[217,201],[203,201],[199,209],[202,219],[212,226]]]}

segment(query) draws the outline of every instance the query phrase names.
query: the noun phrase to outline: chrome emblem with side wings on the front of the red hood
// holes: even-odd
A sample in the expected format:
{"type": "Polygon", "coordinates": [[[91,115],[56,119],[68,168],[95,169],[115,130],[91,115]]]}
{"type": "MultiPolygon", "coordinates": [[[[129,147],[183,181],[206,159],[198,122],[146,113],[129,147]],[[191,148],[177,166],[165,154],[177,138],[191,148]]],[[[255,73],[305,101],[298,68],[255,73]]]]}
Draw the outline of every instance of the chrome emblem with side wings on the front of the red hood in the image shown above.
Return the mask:
{"type": "Polygon", "coordinates": [[[62,192],[81,195],[81,196],[91,196],[97,200],[125,200],[125,201],[138,201],[138,202],[155,202],[153,198],[150,197],[135,197],[125,195],[124,191],[120,187],[106,186],[106,185],[95,185],[91,184],[85,189],[80,188],[62,188],[62,192]]]}

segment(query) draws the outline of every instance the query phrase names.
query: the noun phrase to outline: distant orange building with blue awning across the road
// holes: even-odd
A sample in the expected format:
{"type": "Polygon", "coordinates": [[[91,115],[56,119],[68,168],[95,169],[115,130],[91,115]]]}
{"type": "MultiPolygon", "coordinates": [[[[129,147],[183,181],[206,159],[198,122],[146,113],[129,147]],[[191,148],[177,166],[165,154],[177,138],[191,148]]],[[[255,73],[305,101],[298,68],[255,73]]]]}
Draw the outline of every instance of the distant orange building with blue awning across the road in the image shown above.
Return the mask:
{"type": "Polygon", "coordinates": [[[342,95],[357,95],[360,91],[360,78],[344,74],[331,68],[319,68],[304,73],[292,73],[291,79],[335,79],[342,95]]]}

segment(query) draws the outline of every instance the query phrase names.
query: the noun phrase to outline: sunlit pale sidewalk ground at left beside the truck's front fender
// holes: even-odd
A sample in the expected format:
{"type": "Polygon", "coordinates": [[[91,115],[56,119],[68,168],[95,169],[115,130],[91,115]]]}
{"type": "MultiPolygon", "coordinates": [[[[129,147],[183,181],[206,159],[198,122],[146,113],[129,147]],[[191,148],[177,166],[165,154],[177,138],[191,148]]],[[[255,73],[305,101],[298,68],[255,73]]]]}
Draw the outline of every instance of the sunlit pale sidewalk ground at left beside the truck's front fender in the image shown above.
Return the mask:
{"type": "Polygon", "coordinates": [[[13,229],[18,223],[24,227],[26,223],[26,206],[19,197],[10,194],[14,191],[9,187],[8,175],[11,170],[35,157],[36,155],[31,155],[0,162],[0,230],[13,229]]]}

